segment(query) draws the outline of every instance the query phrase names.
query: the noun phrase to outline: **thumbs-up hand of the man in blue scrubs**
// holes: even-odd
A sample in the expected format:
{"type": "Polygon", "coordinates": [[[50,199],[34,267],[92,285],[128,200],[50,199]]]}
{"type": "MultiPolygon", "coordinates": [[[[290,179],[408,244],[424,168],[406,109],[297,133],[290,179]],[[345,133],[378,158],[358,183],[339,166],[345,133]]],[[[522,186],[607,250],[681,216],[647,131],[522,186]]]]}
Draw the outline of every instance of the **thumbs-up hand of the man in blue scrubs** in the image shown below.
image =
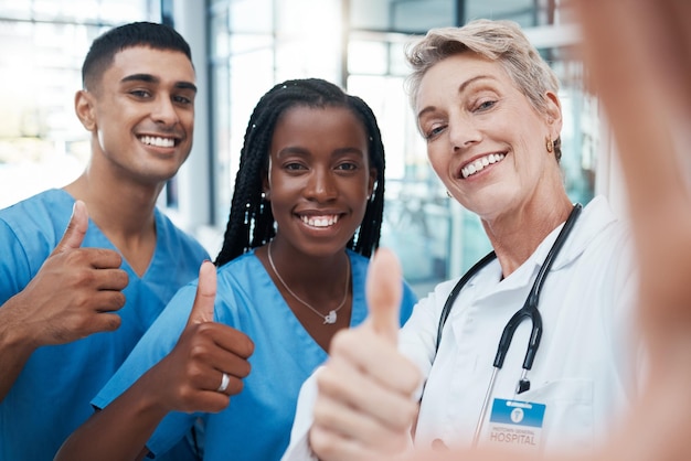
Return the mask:
{"type": "Polygon", "coordinates": [[[128,283],[117,251],[82,248],[88,228],[86,205],[77,201],[67,228],[29,285],[3,304],[3,322],[21,331],[32,347],[63,344],[120,325],[128,283]]]}

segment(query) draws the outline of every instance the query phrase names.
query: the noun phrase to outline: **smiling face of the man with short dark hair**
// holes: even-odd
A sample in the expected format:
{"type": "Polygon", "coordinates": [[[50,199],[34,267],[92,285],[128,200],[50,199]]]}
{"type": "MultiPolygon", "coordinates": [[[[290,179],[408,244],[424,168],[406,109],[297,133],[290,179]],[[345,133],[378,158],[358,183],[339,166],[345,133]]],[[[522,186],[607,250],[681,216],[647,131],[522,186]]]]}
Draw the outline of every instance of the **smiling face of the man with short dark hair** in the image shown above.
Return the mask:
{"type": "Polygon", "coordinates": [[[194,68],[178,51],[135,46],[114,57],[91,92],[76,96],[93,132],[92,163],[146,184],[172,178],[192,148],[194,68]]]}

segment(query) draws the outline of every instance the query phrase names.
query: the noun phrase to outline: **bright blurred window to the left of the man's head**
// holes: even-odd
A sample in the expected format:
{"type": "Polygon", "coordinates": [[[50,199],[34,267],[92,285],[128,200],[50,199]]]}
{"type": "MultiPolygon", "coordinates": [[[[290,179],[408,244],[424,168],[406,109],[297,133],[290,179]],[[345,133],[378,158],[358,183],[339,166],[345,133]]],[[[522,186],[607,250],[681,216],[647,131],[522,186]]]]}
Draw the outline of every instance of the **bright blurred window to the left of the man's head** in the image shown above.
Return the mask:
{"type": "Polygon", "coordinates": [[[88,159],[74,115],[82,62],[113,25],[152,20],[147,0],[0,1],[0,207],[75,179],[88,159]]]}

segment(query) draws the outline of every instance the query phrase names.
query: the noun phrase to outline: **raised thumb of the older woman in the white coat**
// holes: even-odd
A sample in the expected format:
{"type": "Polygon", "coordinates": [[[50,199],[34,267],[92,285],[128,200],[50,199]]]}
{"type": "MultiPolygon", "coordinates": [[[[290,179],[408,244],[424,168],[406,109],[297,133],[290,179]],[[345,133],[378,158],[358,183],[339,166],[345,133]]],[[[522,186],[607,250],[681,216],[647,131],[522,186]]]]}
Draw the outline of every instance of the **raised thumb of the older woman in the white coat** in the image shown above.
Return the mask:
{"type": "Polygon", "coordinates": [[[403,276],[398,258],[387,248],[376,250],[365,283],[370,315],[368,321],[374,331],[396,344],[400,328],[403,276]]]}

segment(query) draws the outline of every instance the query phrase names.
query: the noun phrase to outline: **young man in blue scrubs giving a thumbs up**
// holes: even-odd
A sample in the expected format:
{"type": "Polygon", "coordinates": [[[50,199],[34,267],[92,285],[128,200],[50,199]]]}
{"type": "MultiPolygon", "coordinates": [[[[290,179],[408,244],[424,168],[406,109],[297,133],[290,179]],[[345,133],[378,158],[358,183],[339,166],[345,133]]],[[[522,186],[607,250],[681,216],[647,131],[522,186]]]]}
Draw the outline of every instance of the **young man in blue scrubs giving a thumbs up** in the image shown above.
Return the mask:
{"type": "Polygon", "coordinates": [[[190,46],[130,23],[94,41],[75,111],[84,173],[0,211],[0,460],[52,460],[173,293],[209,258],[157,207],[194,128],[190,46]]]}

